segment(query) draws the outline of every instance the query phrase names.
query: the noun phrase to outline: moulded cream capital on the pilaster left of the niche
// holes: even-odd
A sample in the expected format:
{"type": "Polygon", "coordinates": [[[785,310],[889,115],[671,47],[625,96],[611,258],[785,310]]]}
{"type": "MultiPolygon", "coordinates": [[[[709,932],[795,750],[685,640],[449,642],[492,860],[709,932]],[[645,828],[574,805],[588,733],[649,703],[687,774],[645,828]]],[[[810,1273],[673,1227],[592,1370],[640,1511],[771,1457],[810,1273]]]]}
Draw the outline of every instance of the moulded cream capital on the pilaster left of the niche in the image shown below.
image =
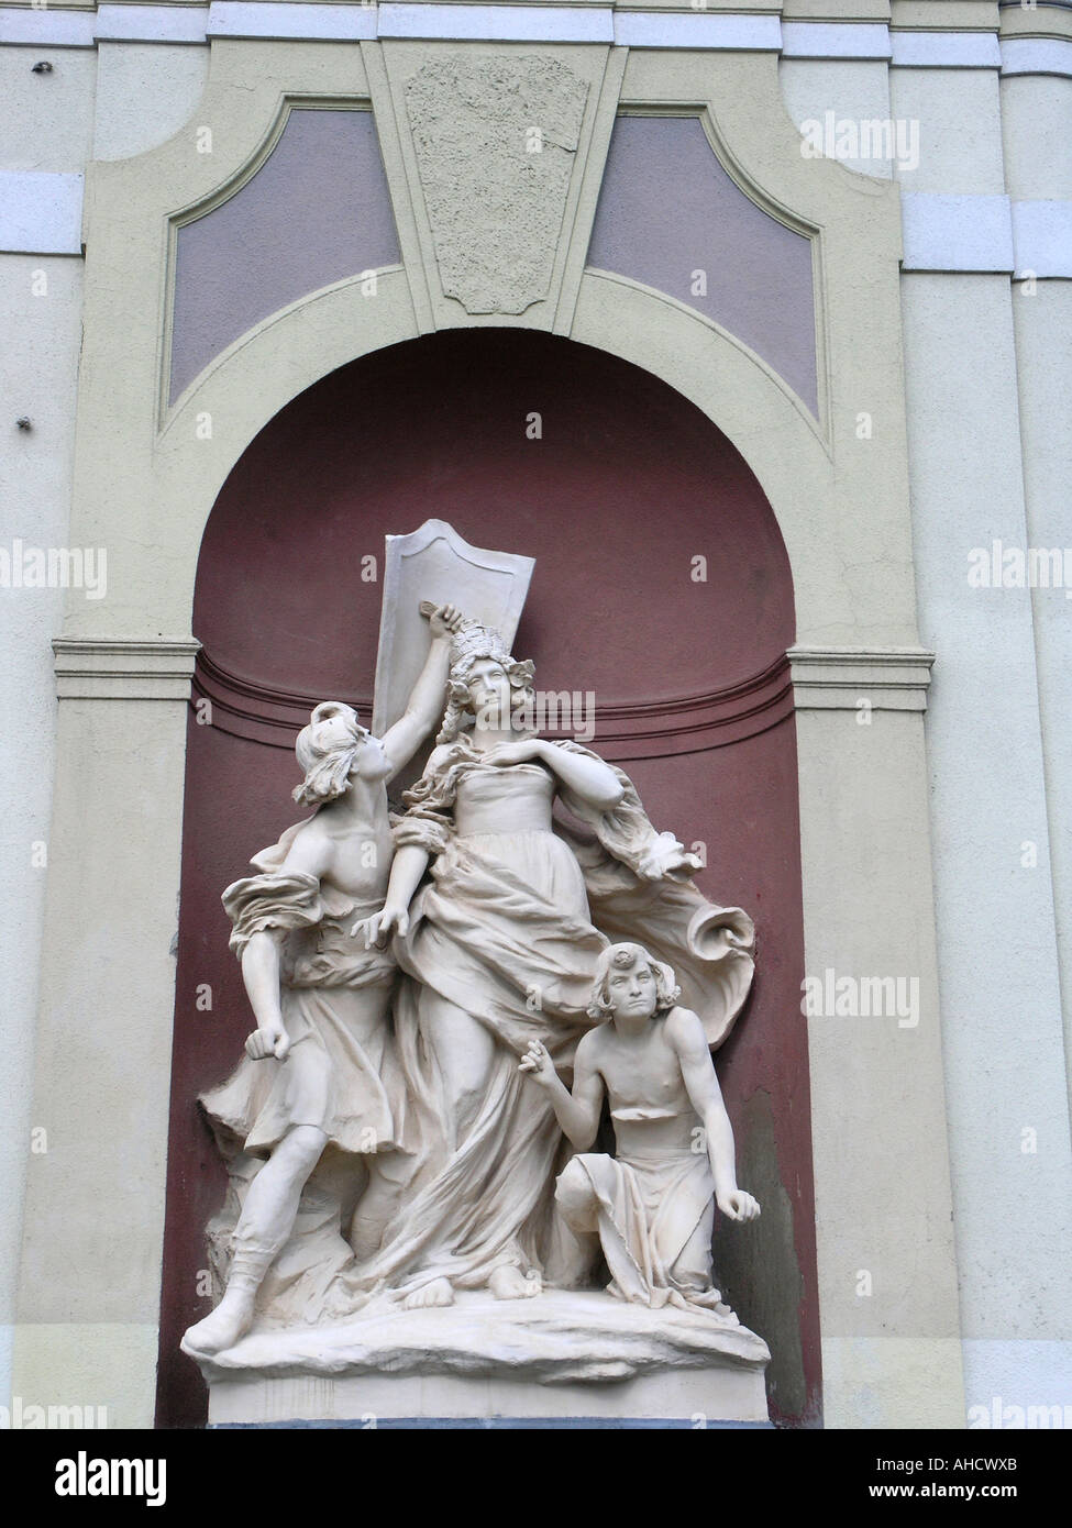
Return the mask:
{"type": "Polygon", "coordinates": [[[188,700],[200,642],[57,637],[60,700],[188,700]]]}

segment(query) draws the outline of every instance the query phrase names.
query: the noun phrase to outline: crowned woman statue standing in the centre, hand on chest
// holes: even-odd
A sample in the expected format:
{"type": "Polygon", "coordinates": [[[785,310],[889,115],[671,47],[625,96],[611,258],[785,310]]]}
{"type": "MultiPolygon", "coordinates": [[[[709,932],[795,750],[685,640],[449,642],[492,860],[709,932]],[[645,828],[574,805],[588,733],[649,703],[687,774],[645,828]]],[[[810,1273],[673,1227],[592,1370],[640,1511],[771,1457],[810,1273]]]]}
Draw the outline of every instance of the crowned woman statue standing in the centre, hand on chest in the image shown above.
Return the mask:
{"type": "Polygon", "coordinates": [[[532,672],[497,633],[456,633],[443,727],[404,798],[384,909],[364,923],[370,943],[393,935],[411,978],[396,1034],[422,1146],[362,1282],[410,1306],[450,1303],[454,1288],[537,1294],[554,1258],[561,1132],[517,1063],[538,1041],[572,1067],[607,940],[552,807],[563,795],[601,816],[625,788],[593,753],[535,733],[532,672]]]}

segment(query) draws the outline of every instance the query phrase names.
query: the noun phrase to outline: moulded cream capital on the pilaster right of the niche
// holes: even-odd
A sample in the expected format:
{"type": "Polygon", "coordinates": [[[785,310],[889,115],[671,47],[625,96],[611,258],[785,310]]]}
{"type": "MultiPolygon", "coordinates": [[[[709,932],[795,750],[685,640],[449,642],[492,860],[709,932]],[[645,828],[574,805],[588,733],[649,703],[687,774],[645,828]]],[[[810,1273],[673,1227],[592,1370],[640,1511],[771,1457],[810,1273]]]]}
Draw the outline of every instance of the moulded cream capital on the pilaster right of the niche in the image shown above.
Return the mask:
{"type": "Polygon", "coordinates": [[[806,648],[786,654],[797,711],[927,711],[925,648],[806,648]]]}

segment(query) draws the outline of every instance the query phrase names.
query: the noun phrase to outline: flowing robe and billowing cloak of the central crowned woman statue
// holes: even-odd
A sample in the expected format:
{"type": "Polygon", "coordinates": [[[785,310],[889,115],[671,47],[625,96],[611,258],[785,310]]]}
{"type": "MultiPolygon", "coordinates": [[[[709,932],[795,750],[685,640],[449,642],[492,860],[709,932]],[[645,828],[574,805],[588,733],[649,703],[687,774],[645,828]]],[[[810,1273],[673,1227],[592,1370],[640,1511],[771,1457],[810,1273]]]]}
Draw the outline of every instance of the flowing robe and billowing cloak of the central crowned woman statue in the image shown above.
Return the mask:
{"type": "MultiPolygon", "coordinates": [[[[587,753],[578,744],[558,747],[587,753]]],[[[593,755],[589,755],[593,756],[593,755]]],[[[577,1280],[577,1247],[552,1215],[557,1172],[569,1151],[544,1093],[518,1071],[541,1041],[569,1071],[587,1016],[596,958],[609,938],[632,938],[668,960],[688,984],[708,1036],[722,1038],[751,983],[751,920],[713,908],[688,880],[694,862],[656,834],[632,782],[612,813],[593,811],[541,764],[494,766],[460,738],[407,793],[399,847],[430,853],[431,874],[413,898],[410,929],[395,940],[405,972],[395,1005],[398,1059],[421,1152],[404,1203],[378,1256],[359,1270],[365,1290],[408,1293],[437,1277],[482,1287],[503,1265],[577,1280]],[[558,793],[593,839],[552,824],[558,793]],[[511,808],[546,805],[546,831],[511,831],[511,808]],[[456,804],[502,804],[503,831],[459,834],[456,804]],[[554,831],[552,831],[554,828],[554,831]],[[595,917],[595,921],[593,921],[595,917]],[[422,1028],[434,1022],[421,990],[439,993],[495,1039],[485,1093],[453,1140],[422,1028]],[[696,1001],[699,998],[699,1001],[696,1001]]],[[[523,821],[535,819],[526,810],[523,821]]]]}

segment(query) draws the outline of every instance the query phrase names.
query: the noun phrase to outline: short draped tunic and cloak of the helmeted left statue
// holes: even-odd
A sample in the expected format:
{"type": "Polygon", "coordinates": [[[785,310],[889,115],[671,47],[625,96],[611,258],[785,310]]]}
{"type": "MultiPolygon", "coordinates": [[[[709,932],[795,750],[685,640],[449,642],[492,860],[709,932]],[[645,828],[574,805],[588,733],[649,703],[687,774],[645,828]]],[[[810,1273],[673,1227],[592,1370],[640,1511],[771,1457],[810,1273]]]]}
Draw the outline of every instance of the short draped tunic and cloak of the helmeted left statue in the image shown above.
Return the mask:
{"type": "Polygon", "coordinates": [[[404,1180],[410,1149],[390,1033],[398,966],[390,950],[367,949],[361,934],[350,934],[379,902],[356,902],[315,876],[284,872],[301,827],[287,828],[254,857],[257,874],[223,892],[239,958],[254,934],[286,934],[280,1005],[291,1053],[284,1062],[243,1056],[226,1082],[200,1096],[229,1175],[226,1203],[210,1225],[210,1262],[220,1284],[260,1161],[294,1126],[312,1125],[327,1137],[291,1236],[258,1291],[258,1320],[269,1326],[332,1320],[355,1308],[355,1259],[343,1235],[353,1193],[367,1170],[404,1180]],[[370,995],[382,1004],[381,1024],[369,1021],[370,995]]]}

